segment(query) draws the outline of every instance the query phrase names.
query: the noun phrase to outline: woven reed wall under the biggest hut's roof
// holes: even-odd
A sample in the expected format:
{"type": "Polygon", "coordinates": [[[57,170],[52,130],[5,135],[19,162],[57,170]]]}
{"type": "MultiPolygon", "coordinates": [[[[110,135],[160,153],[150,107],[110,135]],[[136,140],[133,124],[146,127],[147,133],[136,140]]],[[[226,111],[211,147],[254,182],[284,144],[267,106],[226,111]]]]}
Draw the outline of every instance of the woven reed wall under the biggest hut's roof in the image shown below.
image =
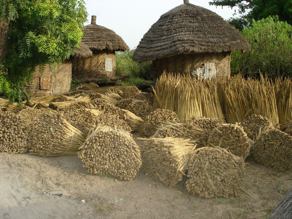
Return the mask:
{"type": "Polygon", "coordinates": [[[164,71],[186,74],[206,62],[216,62],[216,78],[229,77],[230,55],[231,52],[173,55],[154,60],[153,69],[157,77],[164,71]]]}

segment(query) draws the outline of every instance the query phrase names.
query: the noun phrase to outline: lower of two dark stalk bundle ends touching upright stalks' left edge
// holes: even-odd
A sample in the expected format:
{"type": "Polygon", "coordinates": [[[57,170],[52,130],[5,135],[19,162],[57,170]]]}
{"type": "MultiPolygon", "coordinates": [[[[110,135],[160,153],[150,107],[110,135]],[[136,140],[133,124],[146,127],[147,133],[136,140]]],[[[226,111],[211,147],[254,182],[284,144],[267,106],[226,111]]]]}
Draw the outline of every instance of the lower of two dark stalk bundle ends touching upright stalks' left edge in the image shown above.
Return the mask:
{"type": "Polygon", "coordinates": [[[126,110],[134,113],[136,116],[145,119],[152,111],[153,108],[144,100],[135,100],[126,107],[126,110]]]}

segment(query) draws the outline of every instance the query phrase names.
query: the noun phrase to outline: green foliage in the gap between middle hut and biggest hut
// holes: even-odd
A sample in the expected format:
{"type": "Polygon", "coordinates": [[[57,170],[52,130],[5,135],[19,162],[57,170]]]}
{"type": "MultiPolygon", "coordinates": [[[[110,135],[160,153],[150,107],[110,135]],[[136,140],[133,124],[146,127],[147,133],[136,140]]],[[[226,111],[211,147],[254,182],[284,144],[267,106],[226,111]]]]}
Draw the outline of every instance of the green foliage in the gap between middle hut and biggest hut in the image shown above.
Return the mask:
{"type": "Polygon", "coordinates": [[[125,52],[116,52],[117,75],[131,75],[146,80],[152,79],[152,62],[138,63],[133,61],[135,49],[125,52]]]}

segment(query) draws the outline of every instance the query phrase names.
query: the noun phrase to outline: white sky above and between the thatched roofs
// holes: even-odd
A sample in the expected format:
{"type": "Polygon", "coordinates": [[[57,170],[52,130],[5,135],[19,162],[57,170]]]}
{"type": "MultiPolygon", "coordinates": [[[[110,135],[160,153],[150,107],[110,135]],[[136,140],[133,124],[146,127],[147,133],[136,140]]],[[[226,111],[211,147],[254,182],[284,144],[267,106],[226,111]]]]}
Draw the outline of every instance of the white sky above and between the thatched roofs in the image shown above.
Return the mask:
{"type": "MultiPolygon", "coordinates": [[[[232,17],[234,8],[210,6],[211,0],[189,0],[191,4],[208,8],[224,19],[232,17]]],[[[85,0],[88,22],[96,15],[96,24],[112,29],[133,49],[162,14],[183,4],[183,0],[85,0]]]]}

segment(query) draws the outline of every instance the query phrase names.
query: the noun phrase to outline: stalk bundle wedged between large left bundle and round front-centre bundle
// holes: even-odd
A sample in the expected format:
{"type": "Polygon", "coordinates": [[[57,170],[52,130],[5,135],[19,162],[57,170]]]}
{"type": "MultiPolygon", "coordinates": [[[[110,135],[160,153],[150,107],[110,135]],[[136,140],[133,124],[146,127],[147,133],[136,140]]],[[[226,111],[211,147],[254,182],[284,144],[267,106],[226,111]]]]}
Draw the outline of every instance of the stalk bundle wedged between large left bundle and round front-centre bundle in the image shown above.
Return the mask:
{"type": "Polygon", "coordinates": [[[76,109],[73,111],[64,111],[62,114],[72,126],[84,132],[102,112],[96,109],[76,109]]]}

